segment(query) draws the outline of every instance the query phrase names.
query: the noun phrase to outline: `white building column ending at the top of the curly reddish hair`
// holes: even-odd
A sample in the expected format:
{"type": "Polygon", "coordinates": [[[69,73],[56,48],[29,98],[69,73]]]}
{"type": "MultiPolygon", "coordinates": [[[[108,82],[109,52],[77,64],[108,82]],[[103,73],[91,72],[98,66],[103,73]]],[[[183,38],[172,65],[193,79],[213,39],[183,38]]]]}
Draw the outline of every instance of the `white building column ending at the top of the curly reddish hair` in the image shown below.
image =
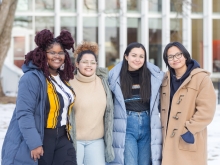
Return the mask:
{"type": "Polygon", "coordinates": [[[76,43],[79,44],[83,41],[83,2],[82,0],[77,0],[77,29],[76,29],[76,43]]]}

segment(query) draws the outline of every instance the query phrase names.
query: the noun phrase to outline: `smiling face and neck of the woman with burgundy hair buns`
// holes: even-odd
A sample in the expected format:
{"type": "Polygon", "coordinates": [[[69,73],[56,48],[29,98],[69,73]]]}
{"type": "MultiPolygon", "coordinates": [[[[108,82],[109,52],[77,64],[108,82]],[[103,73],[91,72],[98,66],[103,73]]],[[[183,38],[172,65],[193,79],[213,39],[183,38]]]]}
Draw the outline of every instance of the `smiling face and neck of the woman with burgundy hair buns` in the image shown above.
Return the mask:
{"type": "Polygon", "coordinates": [[[49,72],[52,75],[57,75],[57,69],[64,63],[65,53],[60,44],[53,44],[47,50],[47,63],[49,66],[49,72]]]}

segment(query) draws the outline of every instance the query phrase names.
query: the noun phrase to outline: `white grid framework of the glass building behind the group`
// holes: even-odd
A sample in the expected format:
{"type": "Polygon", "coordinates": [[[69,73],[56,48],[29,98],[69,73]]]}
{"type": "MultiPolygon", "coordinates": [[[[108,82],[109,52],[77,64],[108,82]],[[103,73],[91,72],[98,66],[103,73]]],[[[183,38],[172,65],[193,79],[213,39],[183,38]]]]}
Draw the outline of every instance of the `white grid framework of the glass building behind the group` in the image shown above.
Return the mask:
{"type": "MultiPolygon", "coordinates": [[[[220,13],[219,14],[213,14],[212,12],[212,0],[203,0],[203,13],[197,13],[197,14],[192,14],[191,13],[191,6],[188,5],[192,2],[192,0],[187,0],[187,3],[183,4],[183,9],[187,8],[187,11],[184,11],[186,14],[184,15],[176,15],[175,13],[170,12],[170,0],[161,0],[162,3],[162,11],[161,12],[150,12],[148,10],[149,4],[151,1],[149,0],[137,0],[139,1],[140,5],[140,11],[137,13],[131,13],[128,12],[127,9],[127,0],[120,0],[120,10],[117,13],[106,13],[105,10],[105,0],[97,0],[98,3],[98,10],[97,12],[94,13],[84,13],[83,11],[83,1],[82,0],[75,0],[76,1],[76,12],[62,12],[61,11],[61,2],[62,0],[54,0],[54,11],[47,11],[47,12],[40,12],[40,11],[35,11],[35,0],[32,1],[32,9],[33,11],[17,11],[16,16],[30,16],[32,17],[32,30],[28,32],[27,39],[32,36],[32,42],[29,40],[28,43],[26,43],[26,51],[30,51],[28,48],[30,48],[28,45],[32,45],[31,48],[33,49],[35,47],[34,44],[34,37],[35,36],[35,31],[36,31],[36,21],[35,17],[36,16],[42,16],[42,17],[53,17],[54,18],[54,33],[55,36],[59,35],[60,30],[61,30],[61,17],[74,17],[76,18],[76,41],[80,43],[83,41],[83,18],[86,16],[88,18],[96,17],[98,20],[98,45],[99,45],[99,66],[101,67],[107,67],[106,66],[106,44],[105,44],[105,34],[108,33],[106,29],[106,21],[105,18],[112,16],[116,17],[119,19],[119,35],[120,35],[120,41],[119,41],[119,58],[120,60],[123,59],[123,53],[124,50],[127,47],[127,19],[128,18],[138,18],[140,19],[139,21],[139,27],[138,27],[138,40],[146,47],[147,52],[149,52],[149,29],[151,24],[149,24],[149,19],[161,19],[162,20],[162,25],[161,25],[161,30],[162,30],[162,36],[161,36],[161,58],[162,58],[162,53],[165,48],[165,46],[170,42],[170,30],[171,30],[171,25],[170,25],[170,19],[171,18],[181,18],[182,19],[182,29],[183,29],[183,34],[182,34],[182,42],[183,45],[187,48],[189,53],[192,53],[192,18],[203,18],[203,51],[204,51],[204,59],[203,59],[203,66],[205,69],[210,71],[212,73],[212,76],[215,78],[220,78],[219,73],[213,73],[212,72],[212,20],[220,18],[220,13]],[[188,5],[188,7],[186,7],[188,5]],[[28,48],[27,48],[28,47],[28,48]]],[[[1,2],[1,0],[0,0],[1,2]]],[[[115,3],[116,1],[112,1],[112,3],[115,3]]],[[[184,1],[186,2],[186,1],[184,1]]],[[[70,22],[71,24],[71,22],[70,22]]],[[[8,59],[10,59],[11,64],[13,64],[13,43],[11,44],[11,49],[8,52],[8,59]]],[[[149,58],[149,56],[147,56],[149,58]]],[[[147,59],[148,60],[148,59],[147,59]]],[[[8,65],[4,65],[4,73],[2,72],[2,77],[3,79],[8,79],[9,74],[5,74],[5,72],[15,72],[10,75],[20,75],[19,69],[15,70],[7,70],[8,65]],[[17,73],[17,70],[19,70],[19,74],[17,73]]],[[[163,71],[166,71],[167,68],[165,66],[165,63],[162,62],[161,69],[163,71]]],[[[17,80],[14,80],[16,82],[17,80]]],[[[7,84],[8,85],[8,84],[7,84]]],[[[14,84],[14,86],[17,86],[17,84],[14,84]]],[[[4,91],[7,91],[7,87],[3,85],[4,91]]],[[[11,89],[15,89],[14,87],[11,89]]],[[[14,90],[16,91],[16,89],[14,90]]]]}

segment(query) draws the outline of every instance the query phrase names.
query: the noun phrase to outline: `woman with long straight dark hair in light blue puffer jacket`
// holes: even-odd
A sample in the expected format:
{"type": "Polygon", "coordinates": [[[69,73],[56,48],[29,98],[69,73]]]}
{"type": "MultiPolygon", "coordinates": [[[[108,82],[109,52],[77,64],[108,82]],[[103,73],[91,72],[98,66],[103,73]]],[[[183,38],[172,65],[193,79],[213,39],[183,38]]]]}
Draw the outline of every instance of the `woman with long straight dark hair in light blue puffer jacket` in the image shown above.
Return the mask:
{"type": "Polygon", "coordinates": [[[109,165],[161,164],[159,98],[163,76],[157,66],[146,62],[146,50],[140,43],[129,44],[123,62],[110,71],[115,160],[109,165]]]}

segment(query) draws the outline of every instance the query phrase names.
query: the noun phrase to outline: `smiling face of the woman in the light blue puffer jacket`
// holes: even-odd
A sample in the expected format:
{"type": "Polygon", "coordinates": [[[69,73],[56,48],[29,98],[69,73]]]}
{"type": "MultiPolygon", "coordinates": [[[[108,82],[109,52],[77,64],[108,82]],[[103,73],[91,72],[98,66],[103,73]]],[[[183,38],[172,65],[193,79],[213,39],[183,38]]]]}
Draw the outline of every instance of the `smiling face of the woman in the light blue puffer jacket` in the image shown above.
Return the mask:
{"type": "Polygon", "coordinates": [[[125,59],[128,61],[128,70],[135,71],[140,69],[145,60],[145,53],[142,48],[133,48],[129,52],[128,56],[125,55],[125,59]]]}

